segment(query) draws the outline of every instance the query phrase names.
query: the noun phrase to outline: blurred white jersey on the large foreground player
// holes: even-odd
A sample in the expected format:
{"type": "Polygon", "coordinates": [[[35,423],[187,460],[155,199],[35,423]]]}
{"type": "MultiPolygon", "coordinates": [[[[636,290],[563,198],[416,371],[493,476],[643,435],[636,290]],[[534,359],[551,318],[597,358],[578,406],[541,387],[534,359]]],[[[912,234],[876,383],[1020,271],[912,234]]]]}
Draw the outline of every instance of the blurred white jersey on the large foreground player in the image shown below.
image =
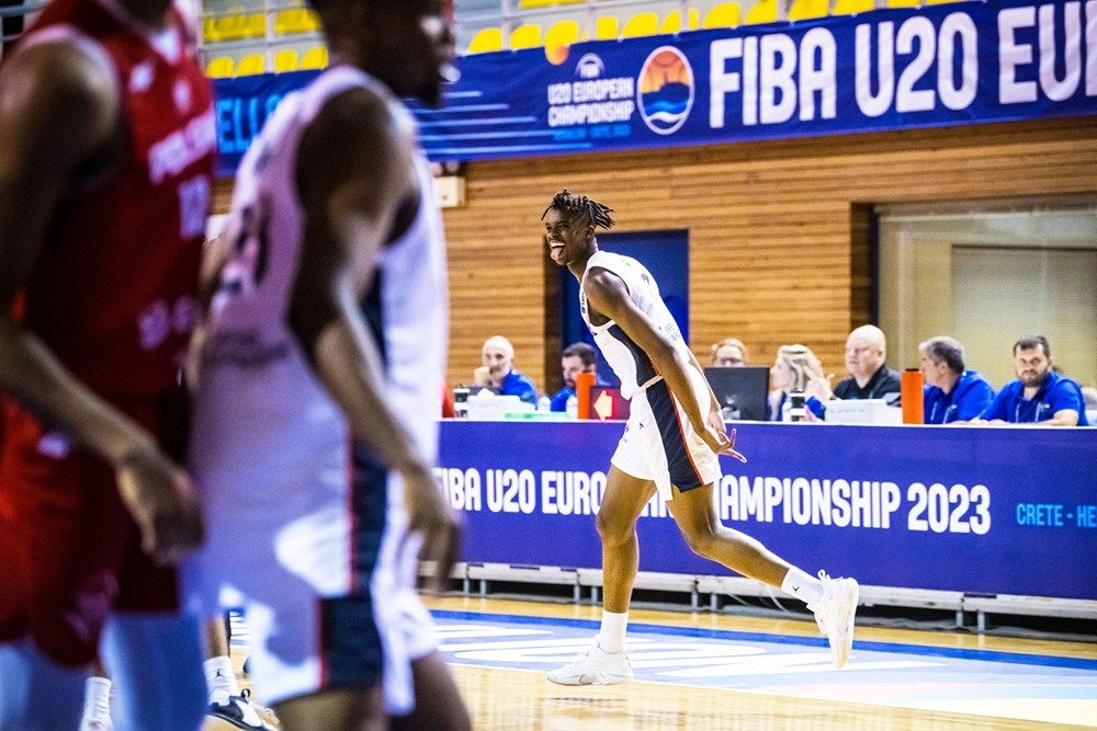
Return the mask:
{"type": "MultiPolygon", "coordinates": [[[[320,476],[330,494],[321,496],[325,491],[315,489],[312,496],[306,494],[310,490],[280,496],[306,510],[310,502],[344,490],[350,431],[286,322],[304,230],[295,182],[297,149],[324,104],[354,87],[392,99],[362,71],[333,67],[284,99],[245,156],[227,230],[235,250],[213,302],[195,399],[196,477],[222,489],[244,490],[295,475],[315,484],[320,476]]],[[[414,126],[406,108],[399,106],[399,113],[414,126]]],[[[378,346],[386,363],[386,400],[423,459],[433,464],[448,345],[448,283],[441,217],[421,151],[416,168],[418,213],[376,265],[378,346]]],[[[360,274],[364,278],[369,273],[360,274]]]]}

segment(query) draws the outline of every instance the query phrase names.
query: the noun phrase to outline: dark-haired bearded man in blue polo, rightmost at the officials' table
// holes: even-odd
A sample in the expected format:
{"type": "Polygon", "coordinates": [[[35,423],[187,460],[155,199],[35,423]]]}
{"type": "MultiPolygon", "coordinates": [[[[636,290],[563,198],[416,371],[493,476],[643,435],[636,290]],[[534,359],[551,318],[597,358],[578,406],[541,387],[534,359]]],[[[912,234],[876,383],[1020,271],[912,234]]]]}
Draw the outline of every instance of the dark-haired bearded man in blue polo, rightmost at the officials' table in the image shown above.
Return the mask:
{"type": "Polygon", "coordinates": [[[1017,379],[1002,387],[977,421],[1040,426],[1089,425],[1082,387],[1073,378],[1052,370],[1047,338],[1029,335],[1014,343],[1014,370],[1017,379]]]}

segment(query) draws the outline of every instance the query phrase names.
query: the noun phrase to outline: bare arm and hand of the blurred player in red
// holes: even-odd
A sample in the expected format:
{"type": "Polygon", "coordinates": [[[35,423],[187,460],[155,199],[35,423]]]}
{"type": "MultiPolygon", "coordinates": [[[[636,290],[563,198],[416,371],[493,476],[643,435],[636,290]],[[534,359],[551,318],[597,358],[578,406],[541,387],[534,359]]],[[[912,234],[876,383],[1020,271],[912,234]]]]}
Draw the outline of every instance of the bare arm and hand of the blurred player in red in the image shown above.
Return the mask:
{"type": "Polygon", "coordinates": [[[106,458],[145,549],[171,560],[202,539],[185,476],[11,317],[75,171],[116,140],[118,110],[110,69],[72,45],[31,46],[0,72],[0,390],[106,458]]]}

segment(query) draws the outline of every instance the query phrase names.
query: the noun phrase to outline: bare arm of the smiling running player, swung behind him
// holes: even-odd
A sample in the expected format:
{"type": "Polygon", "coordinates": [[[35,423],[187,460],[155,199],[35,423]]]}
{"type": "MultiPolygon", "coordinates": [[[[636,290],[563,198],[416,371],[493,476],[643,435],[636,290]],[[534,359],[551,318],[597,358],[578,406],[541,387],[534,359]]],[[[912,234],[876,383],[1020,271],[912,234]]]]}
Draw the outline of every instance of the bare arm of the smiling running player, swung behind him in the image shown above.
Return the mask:
{"type": "Polygon", "coordinates": [[[587,300],[595,309],[617,322],[652,359],[656,373],[667,381],[667,386],[682,404],[690,424],[701,438],[712,447],[713,452],[731,454],[733,445],[722,425],[716,427],[706,419],[710,404],[698,401],[687,370],[693,367],[690,358],[674,347],[648,317],[636,307],[621,277],[607,270],[595,267],[587,273],[583,286],[587,300]]]}

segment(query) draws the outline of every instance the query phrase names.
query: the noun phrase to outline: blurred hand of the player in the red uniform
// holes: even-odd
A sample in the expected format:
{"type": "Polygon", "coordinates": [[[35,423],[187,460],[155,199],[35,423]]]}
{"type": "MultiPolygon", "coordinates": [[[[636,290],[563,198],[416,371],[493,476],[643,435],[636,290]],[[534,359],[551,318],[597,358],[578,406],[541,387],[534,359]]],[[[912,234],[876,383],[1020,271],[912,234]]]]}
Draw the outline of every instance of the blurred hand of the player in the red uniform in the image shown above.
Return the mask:
{"type": "Polygon", "coordinates": [[[133,453],[117,465],[115,477],[140,530],[142,549],[158,563],[174,563],[202,545],[205,527],[194,486],[162,453],[133,453]]]}

